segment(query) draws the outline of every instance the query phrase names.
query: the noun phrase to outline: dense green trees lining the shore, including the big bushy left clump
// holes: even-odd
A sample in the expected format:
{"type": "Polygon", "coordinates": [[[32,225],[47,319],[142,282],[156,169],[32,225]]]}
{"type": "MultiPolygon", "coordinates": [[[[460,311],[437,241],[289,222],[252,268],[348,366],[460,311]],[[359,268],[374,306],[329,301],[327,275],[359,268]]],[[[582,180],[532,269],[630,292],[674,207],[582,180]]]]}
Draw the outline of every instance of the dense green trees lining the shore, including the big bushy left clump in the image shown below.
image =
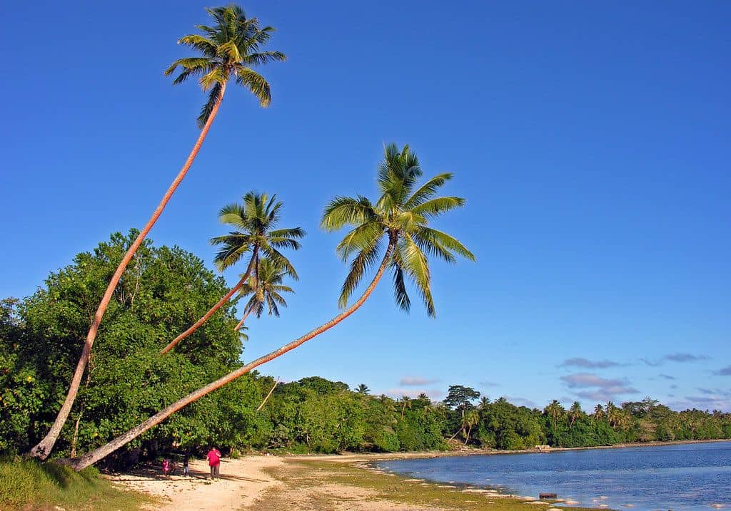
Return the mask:
{"type": "MultiPolygon", "coordinates": [[[[50,428],[105,282],[134,235],[115,234],[50,274],[33,295],[2,301],[0,452],[26,452],[50,428]]],[[[53,456],[78,456],[105,445],[240,366],[243,338],[234,329],[233,303],[160,355],[190,318],[202,315],[227,289],[195,255],[145,242],[110,302],[53,456]]],[[[435,450],[455,442],[516,450],[724,438],[731,438],[731,414],[675,412],[652,399],[597,404],[586,411],[578,403],[564,408],[553,401],[539,410],[491,400],[461,385],[450,386],[447,398],[435,402],[425,395],[372,396],[366,385],[351,390],[320,377],[275,387],[273,378],[254,371],[189,404],[106,463],[124,466],[211,444],[225,450],[335,453],[435,450]]]]}

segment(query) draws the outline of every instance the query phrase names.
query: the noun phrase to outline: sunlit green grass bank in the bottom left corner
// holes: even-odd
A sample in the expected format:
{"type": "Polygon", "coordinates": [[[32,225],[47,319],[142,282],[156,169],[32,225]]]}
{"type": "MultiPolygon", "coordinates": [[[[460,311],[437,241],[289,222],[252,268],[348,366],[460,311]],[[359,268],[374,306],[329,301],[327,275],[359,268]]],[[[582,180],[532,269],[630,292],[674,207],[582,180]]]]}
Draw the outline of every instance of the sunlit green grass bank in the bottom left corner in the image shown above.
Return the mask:
{"type": "Polygon", "coordinates": [[[53,462],[0,459],[0,509],[132,511],[151,498],[116,487],[94,468],[74,472],[53,462]]]}

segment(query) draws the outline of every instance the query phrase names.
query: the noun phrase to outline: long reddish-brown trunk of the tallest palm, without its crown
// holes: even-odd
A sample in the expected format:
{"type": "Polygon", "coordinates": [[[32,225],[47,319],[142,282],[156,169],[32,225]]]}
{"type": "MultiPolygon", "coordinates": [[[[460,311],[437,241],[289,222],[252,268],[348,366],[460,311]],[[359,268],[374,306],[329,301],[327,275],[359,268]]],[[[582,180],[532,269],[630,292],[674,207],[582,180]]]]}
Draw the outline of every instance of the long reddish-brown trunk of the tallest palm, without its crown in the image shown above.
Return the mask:
{"type": "Polygon", "coordinates": [[[99,302],[99,307],[96,309],[96,313],[94,314],[94,320],[92,320],[91,322],[89,331],[86,334],[86,342],[84,342],[83,350],[81,350],[81,357],[79,358],[79,362],[76,365],[74,376],[71,379],[71,385],[69,385],[69,392],[67,393],[66,400],[61,406],[61,410],[58,411],[58,415],[56,415],[56,420],[53,422],[53,426],[51,426],[50,431],[48,431],[48,434],[46,434],[45,438],[42,439],[38,445],[31,449],[30,456],[45,460],[45,458],[48,458],[51,450],[53,450],[53,445],[56,445],[56,440],[61,434],[61,429],[64,427],[64,423],[66,423],[67,418],[69,418],[69,413],[71,413],[71,408],[79,391],[81,377],[83,377],[86,363],[89,356],[91,355],[91,347],[94,345],[96,332],[99,330],[99,324],[102,323],[102,316],[104,316],[104,313],[107,310],[107,306],[109,305],[109,301],[112,299],[112,294],[117,287],[117,283],[119,282],[119,279],[121,279],[127,264],[129,264],[129,261],[132,260],[132,256],[135,255],[135,252],[137,252],[137,248],[140,247],[145,237],[147,237],[150,229],[152,228],[152,226],[155,225],[157,219],[162,214],[162,210],[164,210],[165,206],[167,206],[167,202],[170,201],[170,198],[173,196],[173,193],[175,193],[178,185],[181,184],[183,177],[185,177],[188,173],[190,166],[193,164],[195,157],[198,155],[198,151],[200,150],[200,146],[203,144],[203,140],[205,140],[205,136],[208,134],[208,130],[211,128],[213,119],[216,118],[216,114],[218,113],[219,107],[221,106],[221,101],[224,99],[225,91],[226,84],[223,83],[221,84],[221,96],[219,97],[219,101],[217,101],[216,104],[213,105],[211,115],[208,116],[208,120],[205,122],[205,125],[200,131],[200,135],[198,135],[198,139],[196,140],[193,149],[188,155],[185,164],[183,164],[183,168],[180,172],[178,172],[178,175],[175,176],[175,180],[173,180],[173,183],[170,185],[169,188],[167,188],[164,196],[162,196],[162,200],[157,205],[156,209],[152,213],[152,216],[145,224],[145,227],[142,231],[140,231],[137,239],[135,239],[135,242],[133,242],[132,245],[129,247],[127,252],[124,254],[124,257],[120,261],[119,266],[117,266],[117,269],[114,272],[112,279],[109,281],[109,285],[107,285],[107,291],[105,291],[104,296],[102,296],[102,301],[99,302]]]}

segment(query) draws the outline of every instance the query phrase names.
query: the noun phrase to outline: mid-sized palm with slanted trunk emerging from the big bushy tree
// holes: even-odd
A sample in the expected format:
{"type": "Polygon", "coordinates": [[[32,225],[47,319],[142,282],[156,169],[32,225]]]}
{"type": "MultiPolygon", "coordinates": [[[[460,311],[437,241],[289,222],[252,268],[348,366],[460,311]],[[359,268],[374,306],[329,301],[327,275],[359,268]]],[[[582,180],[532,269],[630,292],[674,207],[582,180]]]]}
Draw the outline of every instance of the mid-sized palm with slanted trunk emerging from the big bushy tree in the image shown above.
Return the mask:
{"type": "Polygon", "coordinates": [[[275,229],[279,223],[281,207],[282,203],[276,200],[276,195],[270,198],[266,193],[251,191],[243,196],[243,204],[228,204],[221,209],[219,220],[238,230],[211,239],[213,245],[223,245],[213,262],[222,272],[224,269],[238,263],[244,255],[251,253],[249,265],[246,266],[246,272],[241,276],[238,284],[231,288],[218,303],[213,305],[202,318],[170,341],[160,353],[167,353],[172,350],[178,342],[188,337],[208,318],[211,318],[211,315],[219,310],[246,283],[251,272],[262,261],[260,256],[272,261],[271,264],[274,266],[284,269],[293,279],[299,278],[292,263],[277,249],[292,248],[298,250],[300,244],[297,239],[304,237],[305,231],[299,227],[275,229]]]}

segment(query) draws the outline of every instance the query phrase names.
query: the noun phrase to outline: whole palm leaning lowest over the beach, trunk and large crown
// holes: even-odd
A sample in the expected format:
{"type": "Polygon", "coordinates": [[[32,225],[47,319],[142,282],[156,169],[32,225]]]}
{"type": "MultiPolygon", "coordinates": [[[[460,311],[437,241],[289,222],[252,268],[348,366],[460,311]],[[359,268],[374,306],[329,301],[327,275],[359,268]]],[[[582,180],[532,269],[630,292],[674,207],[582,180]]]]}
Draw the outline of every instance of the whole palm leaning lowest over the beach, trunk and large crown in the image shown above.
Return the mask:
{"type": "Polygon", "coordinates": [[[340,304],[342,307],[346,306],[350,295],[355,291],[357,284],[360,283],[368,269],[371,269],[378,261],[379,251],[383,252],[373,280],[353,304],[346,307],[335,318],[314,328],[302,337],[189,393],[106,445],[102,445],[80,458],[70,460],[68,463],[76,470],[94,464],[186,405],[333,328],[363,306],[383,277],[387,267],[393,270],[395,298],[398,306],[409,310],[410,301],[406,292],[406,277],[409,277],[421,294],[428,315],[435,315],[427,255],[436,255],[447,262],[455,262],[455,255],[461,255],[471,261],[474,261],[475,258],[457,239],[428,226],[429,220],[461,207],[465,202],[460,197],[436,197],[439,188],[450,180],[452,174],[436,175],[417,187],[417,180],[421,174],[419,161],[408,146],[399,151],[395,145],[388,145],[385,148],[385,160],[379,166],[378,185],[381,192],[379,199],[373,203],[363,196],[358,196],[356,199],[338,197],[325,208],[322,227],[327,231],[336,231],[347,225],[353,226],[336,247],[341,258],[346,259],[355,254],[350,265],[350,272],[341,290],[340,304]]]}

